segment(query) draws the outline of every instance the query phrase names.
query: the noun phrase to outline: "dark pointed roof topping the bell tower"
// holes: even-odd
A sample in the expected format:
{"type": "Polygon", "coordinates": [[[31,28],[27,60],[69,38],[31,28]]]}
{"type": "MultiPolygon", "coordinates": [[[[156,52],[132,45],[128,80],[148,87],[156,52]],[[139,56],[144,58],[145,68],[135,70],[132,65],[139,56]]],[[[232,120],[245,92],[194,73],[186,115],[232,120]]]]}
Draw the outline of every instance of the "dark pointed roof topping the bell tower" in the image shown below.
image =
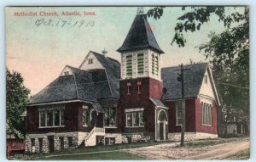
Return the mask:
{"type": "Polygon", "coordinates": [[[145,47],[150,47],[158,53],[164,53],[155,40],[153,31],[148,24],[147,15],[137,14],[125,38],[125,42],[117,51],[121,53],[145,47]]]}

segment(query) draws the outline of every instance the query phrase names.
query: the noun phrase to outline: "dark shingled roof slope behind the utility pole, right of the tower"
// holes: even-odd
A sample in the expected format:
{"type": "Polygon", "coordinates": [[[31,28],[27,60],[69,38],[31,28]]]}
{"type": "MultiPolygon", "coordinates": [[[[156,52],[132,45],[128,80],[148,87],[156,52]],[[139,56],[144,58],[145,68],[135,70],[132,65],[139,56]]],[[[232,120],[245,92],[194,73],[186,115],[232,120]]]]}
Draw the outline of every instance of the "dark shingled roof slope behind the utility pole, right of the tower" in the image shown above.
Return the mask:
{"type": "MultiPolygon", "coordinates": [[[[207,70],[207,63],[184,65],[184,94],[185,98],[195,98],[198,96],[201,88],[203,77],[207,70]]],[[[180,67],[162,68],[161,75],[166,88],[163,100],[178,99],[181,97],[181,83],[177,81],[177,73],[180,73],[180,67]]]]}

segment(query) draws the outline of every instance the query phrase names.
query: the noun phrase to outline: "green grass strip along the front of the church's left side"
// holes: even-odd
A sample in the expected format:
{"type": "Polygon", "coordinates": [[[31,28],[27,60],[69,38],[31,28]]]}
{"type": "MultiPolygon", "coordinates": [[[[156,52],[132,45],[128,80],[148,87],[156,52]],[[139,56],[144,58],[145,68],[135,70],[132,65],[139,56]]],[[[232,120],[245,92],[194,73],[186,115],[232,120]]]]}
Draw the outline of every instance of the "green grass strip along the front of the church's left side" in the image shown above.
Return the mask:
{"type": "Polygon", "coordinates": [[[118,150],[125,148],[142,148],[160,143],[161,142],[137,142],[110,146],[84,147],[50,154],[17,154],[11,156],[10,159],[143,159],[143,157],[119,152],[118,150]],[[104,153],[106,151],[107,153],[104,153]]]}

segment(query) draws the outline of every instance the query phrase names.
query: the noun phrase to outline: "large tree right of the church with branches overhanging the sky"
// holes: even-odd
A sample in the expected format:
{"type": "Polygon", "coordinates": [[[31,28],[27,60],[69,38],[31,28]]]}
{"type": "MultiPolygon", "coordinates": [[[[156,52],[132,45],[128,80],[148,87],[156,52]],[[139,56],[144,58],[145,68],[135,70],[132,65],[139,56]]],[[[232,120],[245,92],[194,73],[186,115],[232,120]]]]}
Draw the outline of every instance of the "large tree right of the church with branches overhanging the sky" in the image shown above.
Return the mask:
{"type": "MultiPolygon", "coordinates": [[[[186,8],[182,7],[182,10],[185,12],[186,8]]],[[[212,15],[218,16],[218,21],[227,30],[221,34],[210,33],[211,41],[200,45],[199,50],[212,64],[212,74],[226,115],[224,121],[236,117],[236,121],[249,124],[249,10],[243,8],[243,13],[234,7],[234,12],[228,14],[226,7],[221,6],[190,7],[189,12],[177,18],[172,43],[184,47],[183,32],[200,31],[212,15]]],[[[148,11],[148,16],[156,20],[162,15],[163,7],[148,11]]]]}

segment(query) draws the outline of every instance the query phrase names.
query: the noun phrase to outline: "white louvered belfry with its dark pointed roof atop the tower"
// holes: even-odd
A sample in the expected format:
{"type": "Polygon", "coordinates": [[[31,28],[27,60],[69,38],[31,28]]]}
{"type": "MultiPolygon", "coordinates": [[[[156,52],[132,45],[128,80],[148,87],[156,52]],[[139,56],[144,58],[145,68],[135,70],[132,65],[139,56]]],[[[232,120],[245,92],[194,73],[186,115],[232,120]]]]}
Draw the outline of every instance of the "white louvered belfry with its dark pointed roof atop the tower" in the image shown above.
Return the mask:
{"type": "Polygon", "coordinates": [[[139,13],[133,20],[121,53],[121,79],[152,77],[161,80],[160,55],[164,53],[155,40],[147,15],[139,13]]]}

